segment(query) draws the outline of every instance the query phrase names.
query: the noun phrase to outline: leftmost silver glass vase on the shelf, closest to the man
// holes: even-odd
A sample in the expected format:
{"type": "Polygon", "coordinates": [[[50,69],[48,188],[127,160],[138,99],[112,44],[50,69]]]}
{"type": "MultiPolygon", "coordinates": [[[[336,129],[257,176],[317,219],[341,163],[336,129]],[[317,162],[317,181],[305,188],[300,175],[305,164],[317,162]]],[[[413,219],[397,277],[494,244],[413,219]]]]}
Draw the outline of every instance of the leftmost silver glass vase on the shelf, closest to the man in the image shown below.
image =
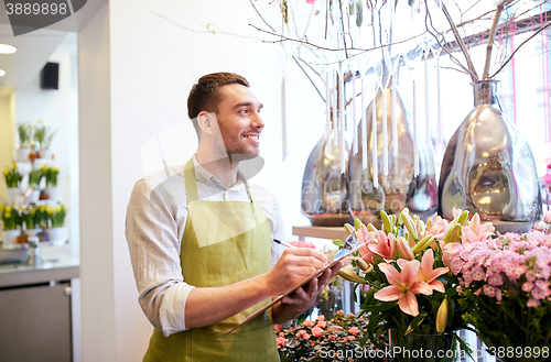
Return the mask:
{"type": "MultiPolygon", "coordinates": [[[[348,174],[341,173],[341,146],[329,144],[323,135],[310,154],[302,178],[301,210],[314,227],[343,227],[354,223],[348,212],[348,174]],[[331,147],[331,156],[327,155],[331,147]]],[[[338,140],[339,141],[339,140],[338,140]]],[[[348,142],[345,138],[345,163],[348,164],[348,142]]]]}

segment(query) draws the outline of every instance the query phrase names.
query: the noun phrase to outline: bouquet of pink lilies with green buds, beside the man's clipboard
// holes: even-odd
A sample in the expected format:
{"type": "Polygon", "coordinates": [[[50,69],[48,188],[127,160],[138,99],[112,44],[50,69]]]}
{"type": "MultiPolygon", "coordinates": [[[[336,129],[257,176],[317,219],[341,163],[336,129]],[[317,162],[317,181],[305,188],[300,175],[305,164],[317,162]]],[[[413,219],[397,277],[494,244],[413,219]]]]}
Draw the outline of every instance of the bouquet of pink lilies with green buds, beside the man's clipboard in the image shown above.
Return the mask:
{"type": "MultiPolygon", "coordinates": [[[[450,252],[457,245],[483,242],[494,234],[493,226],[475,215],[454,211],[454,220],[429,219],[426,224],[407,209],[399,216],[381,211],[382,228],[355,220],[358,241],[364,243],[352,266],[341,275],[364,284],[361,309],[369,315],[367,334],[377,340],[389,329],[404,338],[412,334],[451,334],[442,345],[463,351],[468,347],[455,331],[468,329],[462,318],[465,296],[458,294],[460,279],[450,270],[450,252]],[[355,273],[347,277],[346,273],[355,273]],[[358,279],[359,277],[359,279],[358,279]]],[[[343,245],[341,241],[334,241],[343,245]]],[[[411,336],[410,336],[411,337],[411,336]]],[[[419,348],[422,348],[420,345],[419,348]]]]}

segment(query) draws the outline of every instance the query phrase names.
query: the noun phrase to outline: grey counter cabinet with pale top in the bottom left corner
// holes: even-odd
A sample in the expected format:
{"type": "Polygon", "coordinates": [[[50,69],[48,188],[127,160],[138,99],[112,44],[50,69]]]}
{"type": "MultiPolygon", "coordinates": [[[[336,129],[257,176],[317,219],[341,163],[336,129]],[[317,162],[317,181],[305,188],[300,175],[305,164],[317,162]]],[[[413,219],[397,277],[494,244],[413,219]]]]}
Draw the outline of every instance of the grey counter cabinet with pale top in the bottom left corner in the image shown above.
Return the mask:
{"type": "Polygon", "coordinates": [[[39,266],[0,264],[2,362],[73,361],[73,282],[79,262],[68,255],[39,266]]]}

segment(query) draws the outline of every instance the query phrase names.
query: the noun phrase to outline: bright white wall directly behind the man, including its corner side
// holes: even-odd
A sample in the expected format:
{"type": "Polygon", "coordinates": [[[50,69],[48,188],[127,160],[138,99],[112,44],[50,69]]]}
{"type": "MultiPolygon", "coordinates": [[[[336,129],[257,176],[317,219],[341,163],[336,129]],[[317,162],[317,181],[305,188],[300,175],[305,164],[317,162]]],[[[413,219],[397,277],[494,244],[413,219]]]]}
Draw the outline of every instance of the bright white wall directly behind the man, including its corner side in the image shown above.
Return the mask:
{"type": "Polygon", "coordinates": [[[267,166],[255,179],[278,196],[288,234],[292,224],[307,223],[300,215],[300,188],[310,150],[323,135],[317,95],[291,65],[290,157],[282,163],[281,48],[182,28],[205,30],[198,24],[210,23],[257,37],[247,23],[258,20],[246,0],[111,0],[79,33],[84,361],[138,361],[148,347],[152,327],[138,305],[126,207],[144,175],[142,151],[153,135],[163,139],[171,163],[192,156],[196,135],[186,99],[202,75],[226,70],[248,78],[264,105],[267,124],[261,138],[267,166]],[[171,141],[165,131],[174,127],[180,133],[171,141]]]}

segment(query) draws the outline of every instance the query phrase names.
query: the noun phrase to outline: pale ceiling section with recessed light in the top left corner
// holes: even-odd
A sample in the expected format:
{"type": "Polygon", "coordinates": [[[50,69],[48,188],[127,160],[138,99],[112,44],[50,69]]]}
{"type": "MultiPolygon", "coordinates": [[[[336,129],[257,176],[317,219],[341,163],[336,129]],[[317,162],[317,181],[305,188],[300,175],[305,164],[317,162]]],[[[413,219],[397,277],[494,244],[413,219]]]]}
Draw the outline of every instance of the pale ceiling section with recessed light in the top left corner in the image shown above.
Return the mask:
{"type": "Polygon", "coordinates": [[[0,1],[0,43],[18,48],[14,54],[0,54],[0,69],[6,70],[6,75],[0,77],[0,97],[29,85],[40,74],[67,32],[82,31],[106,2],[108,0],[87,0],[79,11],[55,24],[13,36],[4,2],[0,1]]]}

